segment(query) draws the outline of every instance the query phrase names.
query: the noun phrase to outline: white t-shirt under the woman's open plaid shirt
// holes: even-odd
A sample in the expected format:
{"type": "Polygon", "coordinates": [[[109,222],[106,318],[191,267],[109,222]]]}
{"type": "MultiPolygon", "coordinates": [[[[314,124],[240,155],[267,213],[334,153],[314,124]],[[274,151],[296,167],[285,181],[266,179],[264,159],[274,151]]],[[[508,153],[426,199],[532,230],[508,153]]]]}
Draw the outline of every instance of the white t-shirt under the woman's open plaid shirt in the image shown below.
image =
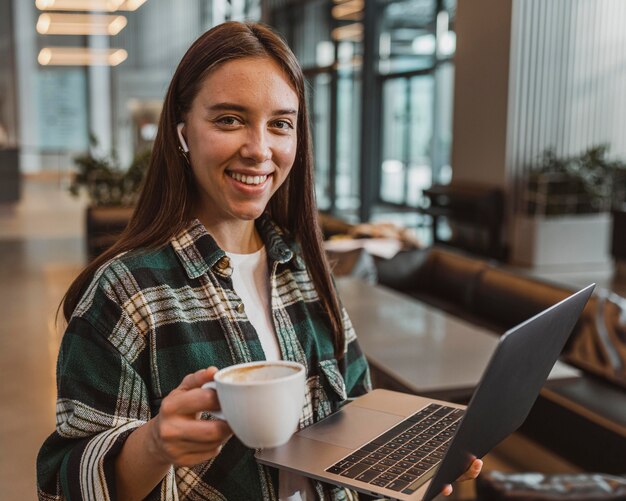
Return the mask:
{"type": "MultiPolygon", "coordinates": [[[[265,247],[252,254],[227,252],[226,255],[233,268],[233,288],[241,298],[248,320],[259,336],[266,360],[280,360],[282,356],[272,321],[270,273],[265,247]]],[[[306,477],[280,470],[278,498],[280,501],[311,501],[315,496],[306,477]]]]}

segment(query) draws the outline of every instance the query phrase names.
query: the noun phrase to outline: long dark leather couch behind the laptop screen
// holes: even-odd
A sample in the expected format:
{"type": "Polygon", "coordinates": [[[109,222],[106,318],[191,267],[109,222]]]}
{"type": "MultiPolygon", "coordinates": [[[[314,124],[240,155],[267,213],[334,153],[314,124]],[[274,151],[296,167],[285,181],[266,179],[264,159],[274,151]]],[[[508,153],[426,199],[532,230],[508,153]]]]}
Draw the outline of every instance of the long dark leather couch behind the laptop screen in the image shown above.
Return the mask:
{"type": "MultiPolygon", "coordinates": [[[[573,289],[445,248],[377,260],[378,282],[494,335],[564,299],[573,289]]],[[[596,291],[562,360],[579,379],[549,382],[522,432],[586,471],[626,473],[626,311],[596,291]]]]}

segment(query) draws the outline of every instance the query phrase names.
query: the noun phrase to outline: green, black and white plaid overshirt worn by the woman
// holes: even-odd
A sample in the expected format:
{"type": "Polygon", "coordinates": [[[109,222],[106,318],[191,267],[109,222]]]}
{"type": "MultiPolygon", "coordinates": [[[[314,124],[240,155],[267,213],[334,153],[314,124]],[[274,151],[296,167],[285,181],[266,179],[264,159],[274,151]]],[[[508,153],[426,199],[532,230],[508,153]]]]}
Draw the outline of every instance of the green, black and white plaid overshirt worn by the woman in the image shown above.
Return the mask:
{"type": "MultiPolygon", "coordinates": [[[[267,216],[256,224],[268,255],[282,358],[307,368],[304,428],[348,396],[367,392],[369,371],[345,311],[345,356],[337,362],[297,245],[267,216]]],[[[56,431],[37,459],[40,499],[115,499],[116,454],[185,375],[265,358],[231,273],[228,257],[199,221],[170,245],[129,252],[100,268],[61,343],[56,431]]],[[[147,499],[272,500],[277,478],[233,437],[210,461],[172,467],[147,499]]],[[[315,491],[320,499],[350,496],[319,483],[315,491]]]]}

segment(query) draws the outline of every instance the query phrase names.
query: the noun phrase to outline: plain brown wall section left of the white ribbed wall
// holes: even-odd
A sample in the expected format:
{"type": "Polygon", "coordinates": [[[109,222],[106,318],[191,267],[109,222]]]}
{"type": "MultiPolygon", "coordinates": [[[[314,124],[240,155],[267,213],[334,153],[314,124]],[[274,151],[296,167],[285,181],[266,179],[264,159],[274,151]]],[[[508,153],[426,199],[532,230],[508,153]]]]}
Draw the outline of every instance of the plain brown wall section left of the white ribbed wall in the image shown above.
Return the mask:
{"type": "Polygon", "coordinates": [[[452,179],[504,186],[511,0],[459,0],[452,179]]]}

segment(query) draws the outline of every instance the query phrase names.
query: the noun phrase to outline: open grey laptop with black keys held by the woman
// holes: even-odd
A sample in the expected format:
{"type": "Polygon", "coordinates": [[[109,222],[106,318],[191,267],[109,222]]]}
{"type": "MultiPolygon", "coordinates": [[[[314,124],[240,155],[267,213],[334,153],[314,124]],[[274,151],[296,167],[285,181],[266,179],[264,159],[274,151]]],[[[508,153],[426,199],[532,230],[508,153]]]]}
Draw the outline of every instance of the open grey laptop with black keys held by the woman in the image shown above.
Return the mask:
{"type": "Polygon", "coordinates": [[[594,287],[507,331],[467,407],[373,390],[257,460],[373,496],[433,499],[522,425],[594,287]]]}

